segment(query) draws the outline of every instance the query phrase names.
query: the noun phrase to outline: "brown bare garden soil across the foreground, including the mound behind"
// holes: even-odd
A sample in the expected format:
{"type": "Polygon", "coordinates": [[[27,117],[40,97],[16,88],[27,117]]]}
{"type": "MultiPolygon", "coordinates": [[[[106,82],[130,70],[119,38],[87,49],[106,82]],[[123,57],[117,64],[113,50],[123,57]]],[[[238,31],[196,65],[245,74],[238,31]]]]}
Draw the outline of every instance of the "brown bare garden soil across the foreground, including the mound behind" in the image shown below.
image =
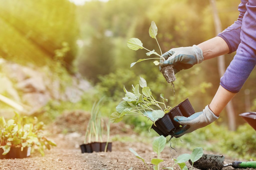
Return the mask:
{"type": "MultiPolygon", "coordinates": [[[[46,150],[44,157],[35,152],[25,159],[0,160],[0,170],[128,170],[131,167],[133,167],[133,170],[147,170],[142,161],[137,159],[128,150],[130,147],[145,159],[150,169],[153,169],[150,161],[152,158],[157,158],[157,155],[153,152],[152,144],[136,142],[138,140],[142,141],[139,139],[141,136],[134,134],[127,125],[122,123],[112,125],[111,134],[120,134],[121,136],[129,135],[134,139],[133,142],[114,141],[112,143],[112,152],[82,154],[79,145],[83,143],[82,133],[89,120],[88,116],[88,113],[80,111],[65,113],[47,128],[48,132],[51,132],[49,138],[57,143],[57,147],[46,150]],[[70,133],[66,135],[61,134],[63,128],[66,128],[67,132],[70,133]]],[[[183,153],[191,153],[191,151],[178,149],[176,152],[170,150],[169,146],[166,146],[161,153],[161,159],[164,162],[161,163],[160,167],[171,167],[174,164],[172,158],[177,158],[178,155],[183,153]]],[[[206,151],[204,153],[213,154],[206,151]]],[[[234,160],[226,158],[224,163],[231,163],[232,161],[234,160]]],[[[189,163],[187,163],[187,166],[189,168],[191,167],[189,163]]],[[[180,168],[176,165],[174,169],[178,170],[180,168]]],[[[234,168],[227,167],[223,169],[230,170],[234,168]]],[[[248,169],[252,170],[252,168],[248,169]]]]}

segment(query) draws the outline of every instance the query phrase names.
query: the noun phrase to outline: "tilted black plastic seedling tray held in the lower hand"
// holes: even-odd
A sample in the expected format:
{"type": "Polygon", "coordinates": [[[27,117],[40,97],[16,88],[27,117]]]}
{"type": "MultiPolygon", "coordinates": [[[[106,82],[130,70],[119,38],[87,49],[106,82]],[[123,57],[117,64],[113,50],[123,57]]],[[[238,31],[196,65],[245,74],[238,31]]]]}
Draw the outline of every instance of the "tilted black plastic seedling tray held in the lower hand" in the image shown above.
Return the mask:
{"type": "Polygon", "coordinates": [[[174,116],[185,116],[189,117],[195,113],[195,110],[191,106],[191,103],[188,99],[179,103],[176,107],[166,113],[162,118],[158,119],[155,124],[152,126],[159,135],[164,137],[168,136],[172,130],[180,126],[180,124],[173,120],[174,116]]]}

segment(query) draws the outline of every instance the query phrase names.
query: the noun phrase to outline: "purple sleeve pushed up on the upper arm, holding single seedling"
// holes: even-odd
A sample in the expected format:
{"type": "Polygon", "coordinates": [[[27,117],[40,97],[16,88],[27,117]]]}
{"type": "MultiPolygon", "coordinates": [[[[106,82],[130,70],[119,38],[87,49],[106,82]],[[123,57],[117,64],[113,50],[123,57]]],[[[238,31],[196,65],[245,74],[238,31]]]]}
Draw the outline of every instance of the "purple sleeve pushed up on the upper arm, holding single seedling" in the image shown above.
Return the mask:
{"type": "Polygon", "coordinates": [[[217,36],[221,37],[226,41],[229,47],[229,54],[237,50],[238,45],[240,44],[240,32],[242,27],[242,20],[244,13],[246,12],[246,3],[248,0],[241,0],[241,3],[238,6],[240,12],[237,21],[235,21],[230,27],[219,33],[217,36]]]}

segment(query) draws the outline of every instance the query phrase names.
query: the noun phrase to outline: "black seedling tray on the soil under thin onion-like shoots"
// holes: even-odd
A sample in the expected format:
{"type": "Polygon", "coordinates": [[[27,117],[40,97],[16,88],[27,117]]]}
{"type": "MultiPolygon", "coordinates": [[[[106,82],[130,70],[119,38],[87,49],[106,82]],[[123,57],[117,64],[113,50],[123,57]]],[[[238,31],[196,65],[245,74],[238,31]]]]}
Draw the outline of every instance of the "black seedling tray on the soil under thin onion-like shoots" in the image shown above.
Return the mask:
{"type": "MultiPolygon", "coordinates": [[[[82,153],[104,152],[107,142],[92,142],[80,145],[82,153]]],[[[107,151],[112,151],[112,142],[108,142],[107,151]]]]}

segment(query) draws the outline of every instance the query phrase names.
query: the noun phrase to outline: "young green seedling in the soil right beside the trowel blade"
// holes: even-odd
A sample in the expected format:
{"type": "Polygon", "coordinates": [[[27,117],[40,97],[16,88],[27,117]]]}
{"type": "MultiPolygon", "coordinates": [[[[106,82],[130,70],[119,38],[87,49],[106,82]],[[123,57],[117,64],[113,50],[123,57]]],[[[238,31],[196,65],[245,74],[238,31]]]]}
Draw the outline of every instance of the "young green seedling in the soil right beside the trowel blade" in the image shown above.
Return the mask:
{"type": "MultiPolygon", "coordinates": [[[[192,162],[192,166],[191,166],[191,170],[192,170],[192,167],[194,165],[194,162],[196,162],[197,160],[199,160],[203,155],[203,148],[195,148],[191,154],[188,154],[188,153],[184,153],[182,155],[179,155],[177,157],[177,159],[174,159],[173,160],[175,161],[174,162],[174,165],[178,164],[180,169],[181,170],[188,170],[188,167],[186,166],[185,162],[187,162],[189,159],[191,160],[192,162]]],[[[163,169],[173,169],[174,165],[172,167],[165,167],[163,169]]]]}

